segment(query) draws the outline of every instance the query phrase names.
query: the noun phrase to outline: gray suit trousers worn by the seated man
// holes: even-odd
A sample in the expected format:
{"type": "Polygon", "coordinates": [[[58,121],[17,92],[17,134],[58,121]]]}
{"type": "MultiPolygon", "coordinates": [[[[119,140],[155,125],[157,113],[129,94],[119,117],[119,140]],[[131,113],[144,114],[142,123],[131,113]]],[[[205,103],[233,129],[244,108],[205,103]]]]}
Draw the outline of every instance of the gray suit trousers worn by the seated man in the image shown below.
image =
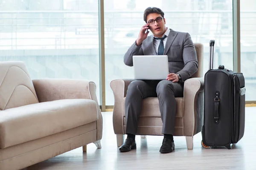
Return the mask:
{"type": "Polygon", "coordinates": [[[163,134],[174,134],[176,117],[175,97],[183,96],[183,84],[168,80],[135,80],[130,83],[125,98],[126,133],[136,135],[142,100],[157,97],[163,134]]]}

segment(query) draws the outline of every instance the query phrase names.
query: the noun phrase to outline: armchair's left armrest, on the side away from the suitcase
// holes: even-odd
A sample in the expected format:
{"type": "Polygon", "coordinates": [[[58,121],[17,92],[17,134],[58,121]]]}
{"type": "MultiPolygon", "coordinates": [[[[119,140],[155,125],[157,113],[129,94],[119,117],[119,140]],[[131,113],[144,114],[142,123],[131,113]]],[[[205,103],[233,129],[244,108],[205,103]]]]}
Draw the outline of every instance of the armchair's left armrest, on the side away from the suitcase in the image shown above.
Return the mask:
{"type": "Polygon", "coordinates": [[[126,96],[128,85],[133,79],[115,79],[110,82],[114,94],[113,129],[115,134],[124,134],[123,130],[123,98],[126,96]]]}

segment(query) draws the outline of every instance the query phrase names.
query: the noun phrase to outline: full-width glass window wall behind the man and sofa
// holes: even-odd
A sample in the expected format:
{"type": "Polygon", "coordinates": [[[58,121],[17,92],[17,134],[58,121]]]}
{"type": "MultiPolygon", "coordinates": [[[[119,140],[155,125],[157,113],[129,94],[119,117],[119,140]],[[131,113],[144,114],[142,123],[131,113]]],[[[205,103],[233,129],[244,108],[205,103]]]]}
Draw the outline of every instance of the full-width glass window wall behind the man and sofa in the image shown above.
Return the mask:
{"type": "MultiPolygon", "coordinates": [[[[99,100],[98,3],[0,0],[0,61],[24,61],[32,79],[93,81],[99,100]]],[[[204,73],[210,40],[215,40],[214,68],[233,69],[233,0],[104,0],[106,105],[114,104],[113,79],[134,78],[133,67],[125,65],[123,57],[145,24],[143,12],[149,6],[164,11],[168,28],[189,32],[193,42],[204,44],[204,73]]],[[[240,6],[241,72],[246,79],[246,100],[255,101],[256,2],[244,0],[240,6]]]]}

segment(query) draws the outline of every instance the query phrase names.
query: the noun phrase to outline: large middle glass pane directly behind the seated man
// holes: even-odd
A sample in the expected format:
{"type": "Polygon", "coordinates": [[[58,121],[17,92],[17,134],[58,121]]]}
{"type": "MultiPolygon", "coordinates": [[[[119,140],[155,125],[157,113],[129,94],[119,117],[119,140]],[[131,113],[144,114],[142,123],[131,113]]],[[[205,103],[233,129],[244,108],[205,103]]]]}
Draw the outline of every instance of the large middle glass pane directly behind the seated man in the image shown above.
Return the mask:
{"type": "MultiPolygon", "coordinates": [[[[189,32],[193,42],[204,44],[204,73],[208,70],[209,41],[215,40],[214,68],[233,69],[232,0],[158,0],[166,27],[189,32]]],[[[134,72],[123,62],[128,48],[145,24],[143,12],[155,0],[105,0],[106,105],[113,105],[110,82],[132,79],[134,72]]],[[[151,32],[148,34],[151,35],[151,32]]]]}

